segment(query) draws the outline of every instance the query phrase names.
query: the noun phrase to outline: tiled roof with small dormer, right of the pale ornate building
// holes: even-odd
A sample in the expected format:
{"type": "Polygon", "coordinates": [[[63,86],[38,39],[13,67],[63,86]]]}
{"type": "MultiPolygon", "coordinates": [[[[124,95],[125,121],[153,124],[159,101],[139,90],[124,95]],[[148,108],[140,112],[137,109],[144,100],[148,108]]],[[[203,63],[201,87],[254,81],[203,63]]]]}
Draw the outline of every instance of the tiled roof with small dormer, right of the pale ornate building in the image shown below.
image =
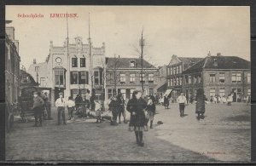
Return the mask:
{"type": "MultiPolygon", "coordinates": [[[[140,58],[110,58],[106,57],[107,68],[114,68],[115,63],[117,64],[117,68],[142,68],[141,59],[140,58]],[[130,62],[135,60],[136,67],[131,67],[130,62]]],[[[151,65],[148,61],[143,60],[143,68],[155,68],[155,66],[151,65]]]]}

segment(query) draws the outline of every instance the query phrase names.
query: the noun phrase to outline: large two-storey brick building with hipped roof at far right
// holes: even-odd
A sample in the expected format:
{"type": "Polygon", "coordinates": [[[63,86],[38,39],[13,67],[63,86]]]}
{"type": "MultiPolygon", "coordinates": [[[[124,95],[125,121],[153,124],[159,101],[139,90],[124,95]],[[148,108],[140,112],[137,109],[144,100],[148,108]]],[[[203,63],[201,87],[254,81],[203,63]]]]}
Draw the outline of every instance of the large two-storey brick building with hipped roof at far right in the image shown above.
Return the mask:
{"type": "Polygon", "coordinates": [[[183,71],[186,96],[195,96],[197,89],[204,89],[207,99],[215,94],[222,97],[233,92],[233,101],[241,102],[243,97],[251,94],[251,63],[236,56],[208,54],[183,71]]]}

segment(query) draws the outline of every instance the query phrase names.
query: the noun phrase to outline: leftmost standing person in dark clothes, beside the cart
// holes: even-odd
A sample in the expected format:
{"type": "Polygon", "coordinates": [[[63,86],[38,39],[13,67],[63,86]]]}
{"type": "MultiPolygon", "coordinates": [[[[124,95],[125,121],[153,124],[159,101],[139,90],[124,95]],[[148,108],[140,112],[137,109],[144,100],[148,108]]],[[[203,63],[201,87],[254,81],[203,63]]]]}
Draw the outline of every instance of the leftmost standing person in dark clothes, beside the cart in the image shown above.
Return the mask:
{"type": "Polygon", "coordinates": [[[42,127],[42,116],[43,116],[43,109],[44,109],[44,100],[40,97],[39,92],[33,93],[33,107],[32,110],[35,116],[35,125],[34,127],[38,127],[38,119],[39,119],[39,126],[42,127]]]}

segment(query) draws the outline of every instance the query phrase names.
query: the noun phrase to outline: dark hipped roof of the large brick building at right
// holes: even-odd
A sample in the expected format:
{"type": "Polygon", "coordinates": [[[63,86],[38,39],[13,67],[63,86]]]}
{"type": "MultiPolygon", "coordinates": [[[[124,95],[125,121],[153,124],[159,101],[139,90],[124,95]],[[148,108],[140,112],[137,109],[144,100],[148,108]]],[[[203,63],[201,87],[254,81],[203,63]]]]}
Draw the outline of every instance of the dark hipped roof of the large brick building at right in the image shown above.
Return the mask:
{"type": "Polygon", "coordinates": [[[251,62],[237,56],[207,56],[195,65],[190,66],[184,73],[201,69],[251,69],[251,62]]]}

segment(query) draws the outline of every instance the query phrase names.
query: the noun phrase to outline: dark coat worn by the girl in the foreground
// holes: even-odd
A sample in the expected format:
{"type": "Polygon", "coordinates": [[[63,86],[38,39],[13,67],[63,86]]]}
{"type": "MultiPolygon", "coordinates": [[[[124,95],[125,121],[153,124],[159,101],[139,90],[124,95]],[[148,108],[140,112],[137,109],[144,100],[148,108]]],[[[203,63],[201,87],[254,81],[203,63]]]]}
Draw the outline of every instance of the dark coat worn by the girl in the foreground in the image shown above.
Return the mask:
{"type": "Polygon", "coordinates": [[[146,124],[146,117],[144,109],[147,107],[147,102],[143,98],[131,99],[128,101],[126,109],[131,112],[131,119],[129,126],[143,127],[146,124]],[[132,115],[132,112],[136,112],[136,115],[132,115]]]}

